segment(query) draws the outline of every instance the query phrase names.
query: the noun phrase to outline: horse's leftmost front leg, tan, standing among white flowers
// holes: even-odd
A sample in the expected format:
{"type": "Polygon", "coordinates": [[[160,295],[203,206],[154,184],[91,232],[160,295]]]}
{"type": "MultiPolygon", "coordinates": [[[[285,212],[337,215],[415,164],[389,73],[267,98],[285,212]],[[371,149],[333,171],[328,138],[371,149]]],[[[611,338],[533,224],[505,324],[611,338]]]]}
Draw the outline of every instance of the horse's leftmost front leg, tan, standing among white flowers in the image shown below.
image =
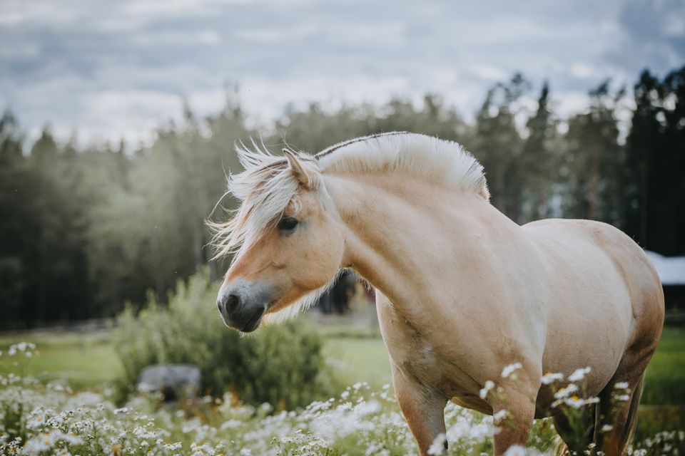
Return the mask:
{"type": "MultiPolygon", "coordinates": [[[[402,415],[405,415],[409,428],[419,445],[419,451],[421,455],[427,455],[436,437],[445,433],[447,398],[437,390],[424,387],[417,381],[407,378],[394,363],[392,364],[392,385],[395,387],[395,397],[402,409],[402,415]]],[[[445,440],[445,448],[447,448],[447,440],[445,440]]]]}

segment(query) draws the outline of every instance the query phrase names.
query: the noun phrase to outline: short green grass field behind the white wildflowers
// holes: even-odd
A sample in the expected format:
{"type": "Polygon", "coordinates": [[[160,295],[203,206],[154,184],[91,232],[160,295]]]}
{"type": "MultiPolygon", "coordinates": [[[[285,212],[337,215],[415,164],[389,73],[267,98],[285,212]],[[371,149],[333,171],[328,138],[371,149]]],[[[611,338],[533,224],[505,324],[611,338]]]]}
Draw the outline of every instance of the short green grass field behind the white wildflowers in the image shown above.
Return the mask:
{"type": "MultiPolygon", "coordinates": [[[[325,354],[341,383],[365,381],[375,390],[390,383],[390,361],[380,337],[331,332],[325,354]]],[[[106,332],[5,335],[0,336],[0,350],[6,351],[18,341],[38,346],[39,356],[29,363],[26,374],[40,380],[67,380],[72,388],[78,389],[114,380],[121,373],[121,363],[106,332]]],[[[13,369],[9,358],[0,357],[0,374],[13,369]]],[[[647,370],[642,403],[685,405],[685,326],[664,328],[647,370]]]]}

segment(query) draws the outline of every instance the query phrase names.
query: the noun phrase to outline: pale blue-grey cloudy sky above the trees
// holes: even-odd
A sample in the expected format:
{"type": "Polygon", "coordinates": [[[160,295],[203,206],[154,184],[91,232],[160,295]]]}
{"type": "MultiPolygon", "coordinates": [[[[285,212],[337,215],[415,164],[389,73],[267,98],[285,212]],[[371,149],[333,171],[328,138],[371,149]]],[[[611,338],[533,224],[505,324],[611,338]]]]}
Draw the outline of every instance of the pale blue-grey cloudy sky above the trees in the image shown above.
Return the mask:
{"type": "Polygon", "coordinates": [[[516,71],[569,115],[606,78],[684,64],[685,0],[0,1],[0,109],[29,138],[149,142],[183,100],[235,96],[255,125],[425,93],[470,119],[516,71]]]}

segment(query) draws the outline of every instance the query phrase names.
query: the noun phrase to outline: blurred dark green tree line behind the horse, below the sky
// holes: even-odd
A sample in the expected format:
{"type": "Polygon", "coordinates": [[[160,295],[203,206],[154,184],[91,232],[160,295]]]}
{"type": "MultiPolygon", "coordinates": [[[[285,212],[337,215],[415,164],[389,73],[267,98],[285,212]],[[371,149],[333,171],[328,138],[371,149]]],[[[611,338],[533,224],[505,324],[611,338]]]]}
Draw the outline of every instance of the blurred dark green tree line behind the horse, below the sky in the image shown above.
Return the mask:
{"type": "Polygon", "coordinates": [[[289,108],[267,128],[250,128],[228,99],[202,119],[186,108],[182,122],[134,150],[60,143],[49,128],[28,144],[8,111],[0,119],[0,325],[111,316],[149,293],[163,301],[205,264],[219,276],[226,265],[210,261],[205,219],[225,175],[240,171],[233,145],[250,138],[308,152],[391,130],[455,140],[484,165],[492,203],[516,222],[598,219],[646,249],[685,254],[685,67],[663,78],[644,71],[630,91],[606,81],[588,95],[589,108],[561,118],[547,83],[535,90],[517,74],[487,91],[473,122],[425,95],[420,106],[289,108]],[[533,110],[521,103],[530,95],[533,110]]]}

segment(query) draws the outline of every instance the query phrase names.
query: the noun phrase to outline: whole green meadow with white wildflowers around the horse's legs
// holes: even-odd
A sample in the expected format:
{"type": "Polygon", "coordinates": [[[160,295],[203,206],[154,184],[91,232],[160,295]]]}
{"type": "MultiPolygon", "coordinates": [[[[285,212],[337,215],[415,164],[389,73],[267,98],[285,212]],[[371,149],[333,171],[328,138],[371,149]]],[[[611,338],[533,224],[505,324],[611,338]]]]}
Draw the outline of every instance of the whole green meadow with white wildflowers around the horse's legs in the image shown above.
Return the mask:
{"type": "MultiPolygon", "coordinates": [[[[352,386],[303,410],[280,413],[268,404],[243,405],[230,394],[175,406],[143,394],[121,407],[107,386],[122,371],[108,331],[0,336],[0,423],[6,436],[0,445],[4,454],[27,455],[415,454],[389,385],[380,336],[335,327],[322,332],[328,375],[336,385],[352,386]],[[35,353],[8,356],[18,341],[35,343],[35,353]],[[19,405],[20,419],[13,415],[19,405]],[[19,423],[14,433],[12,420],[19,423]],[[13,444],[10,435],[22,441],[13,444]]],[[[666,327],[649,366],[636,432],[641,450],[635,454],[683,450],[685,435],[678,431],[685,428],[684,388],[685,328],[666,327]]],[[[446,417],[449,454],[492,450],[492,418],[453,405],[446,417]]],[[[537,422],[532,435],[529,454],[552,449],[548,420],[537,422]]]]}

